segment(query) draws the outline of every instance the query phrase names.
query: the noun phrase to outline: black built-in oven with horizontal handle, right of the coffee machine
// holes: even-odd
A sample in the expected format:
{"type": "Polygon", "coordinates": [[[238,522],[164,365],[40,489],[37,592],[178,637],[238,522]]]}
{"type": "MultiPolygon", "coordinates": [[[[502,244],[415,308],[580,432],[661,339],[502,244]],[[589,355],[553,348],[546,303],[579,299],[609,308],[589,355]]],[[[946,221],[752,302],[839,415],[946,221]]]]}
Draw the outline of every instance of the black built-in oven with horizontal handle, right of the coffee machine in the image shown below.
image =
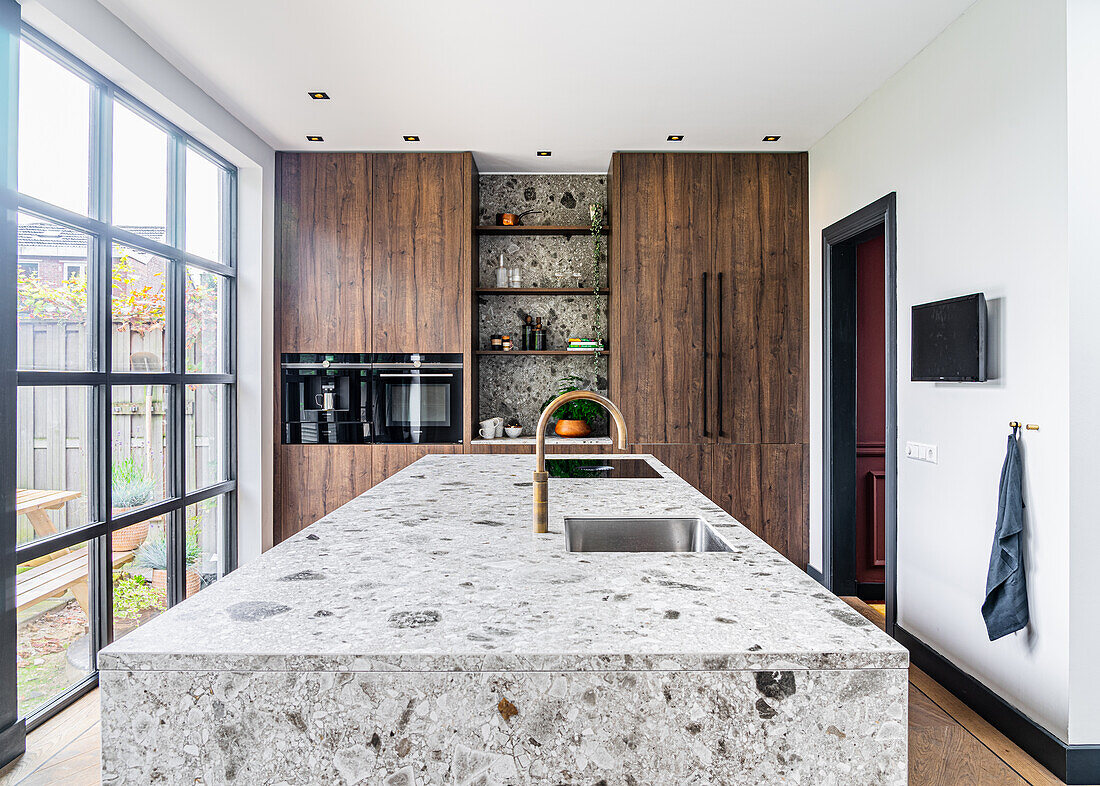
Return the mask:
{"type": "Polygon", "coordinates": [[[462,355],[376,354],[375,442],[462,442],[462,355]]]}

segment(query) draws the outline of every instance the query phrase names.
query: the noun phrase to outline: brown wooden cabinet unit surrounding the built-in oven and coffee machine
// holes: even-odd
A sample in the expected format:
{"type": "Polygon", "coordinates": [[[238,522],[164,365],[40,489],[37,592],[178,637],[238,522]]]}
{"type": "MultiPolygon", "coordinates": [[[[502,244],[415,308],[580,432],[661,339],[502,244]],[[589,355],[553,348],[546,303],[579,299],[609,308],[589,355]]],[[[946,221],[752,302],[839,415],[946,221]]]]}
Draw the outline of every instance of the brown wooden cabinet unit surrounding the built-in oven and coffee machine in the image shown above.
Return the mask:
{"type": "Polygon", "coordinates": [[[462,353],[470,419],[476,193],[469,153],[277,154],[275,543],[426,453],[461,451],[279,444],[278,359],[287,352],[462,353]]]}

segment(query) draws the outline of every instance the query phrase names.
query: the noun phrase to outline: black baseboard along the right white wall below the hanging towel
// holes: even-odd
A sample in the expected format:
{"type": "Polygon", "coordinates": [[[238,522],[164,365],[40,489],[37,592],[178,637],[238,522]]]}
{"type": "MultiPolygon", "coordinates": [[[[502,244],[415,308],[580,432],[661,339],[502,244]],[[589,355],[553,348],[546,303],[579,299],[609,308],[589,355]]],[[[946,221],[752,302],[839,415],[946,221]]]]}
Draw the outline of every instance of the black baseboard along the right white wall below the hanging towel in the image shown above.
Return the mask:
{"type": "Polygon", "coordinates": [[[1068,745],[901,626],[894,639],[913,665],[1027,752],[1068,786],[1100,783],[1100,745],[1068,745]]]}

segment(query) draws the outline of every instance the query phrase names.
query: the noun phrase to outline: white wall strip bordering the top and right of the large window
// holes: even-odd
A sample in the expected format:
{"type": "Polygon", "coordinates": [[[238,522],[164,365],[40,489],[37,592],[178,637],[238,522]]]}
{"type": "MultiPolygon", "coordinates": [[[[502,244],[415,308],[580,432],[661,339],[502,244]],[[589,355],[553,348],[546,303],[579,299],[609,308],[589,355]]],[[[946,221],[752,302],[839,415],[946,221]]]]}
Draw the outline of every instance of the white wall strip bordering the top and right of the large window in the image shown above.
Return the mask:
{"type": "Polygon", "coordinates": [[[275,153],[95,0],[26,0],[23,20],[240,169],[240,561],[271,545],[275,153]]]}

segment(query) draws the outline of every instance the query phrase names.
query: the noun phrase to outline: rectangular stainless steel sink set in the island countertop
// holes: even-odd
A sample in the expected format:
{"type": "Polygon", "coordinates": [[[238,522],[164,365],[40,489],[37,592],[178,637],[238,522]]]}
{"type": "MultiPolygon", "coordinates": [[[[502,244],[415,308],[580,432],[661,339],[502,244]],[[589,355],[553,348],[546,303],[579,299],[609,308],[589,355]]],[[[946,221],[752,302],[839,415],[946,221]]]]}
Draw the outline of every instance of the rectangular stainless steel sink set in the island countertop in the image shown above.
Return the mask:
{"type": "Polygon", "coordinates": [[[729,544],[702,519],[565,517],[573,552],[719,552],[729,544]]]}

